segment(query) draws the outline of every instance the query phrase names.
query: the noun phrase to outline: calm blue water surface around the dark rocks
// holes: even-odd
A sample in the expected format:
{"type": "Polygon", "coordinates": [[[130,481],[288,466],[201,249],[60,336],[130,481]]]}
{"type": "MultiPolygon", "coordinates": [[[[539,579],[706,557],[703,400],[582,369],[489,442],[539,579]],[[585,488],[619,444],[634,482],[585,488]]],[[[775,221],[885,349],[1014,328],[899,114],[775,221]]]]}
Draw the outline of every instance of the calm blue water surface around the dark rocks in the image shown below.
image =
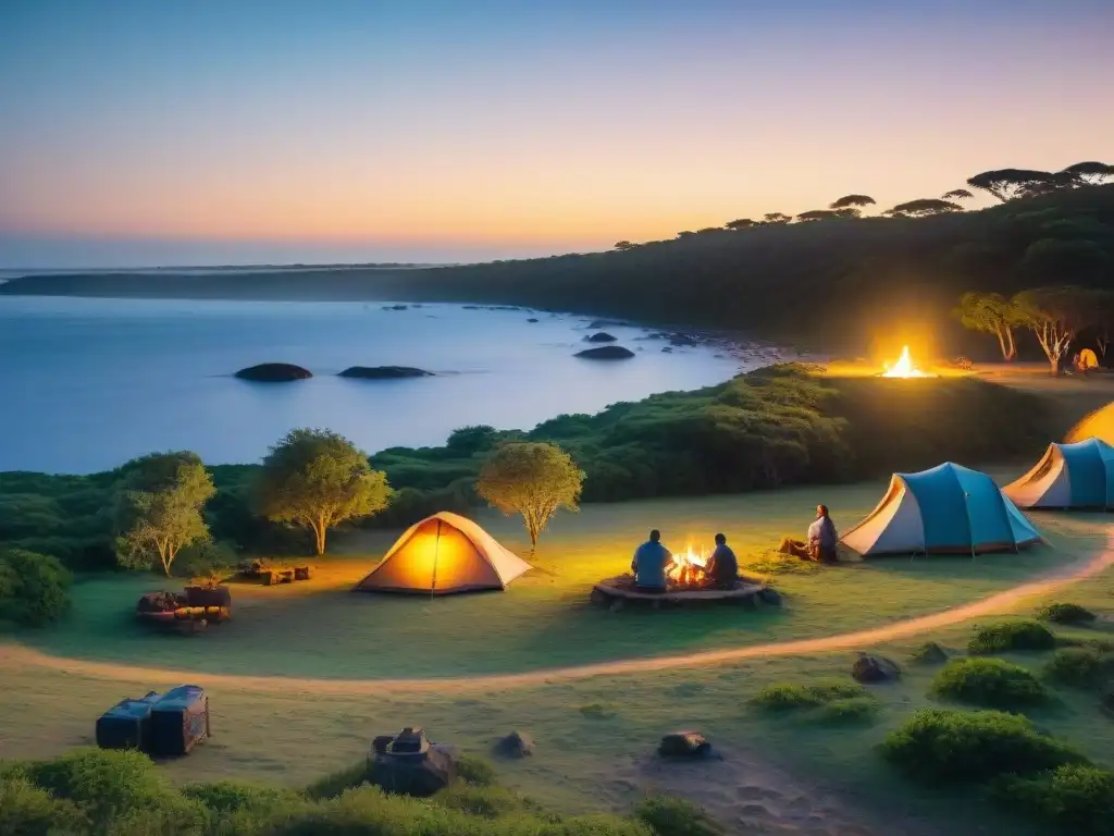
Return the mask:
{"type": "Polygon", "coordinates": [[[723,346],[663,352],[667,343],[644,329],[608,327],[637,356],[580,360],[588,321],[448,304],[0,297],[0,470],[94,473],[172,449],[208,464],[256,461],[295,427],[333,429],[368,453],[439,445],[457,427],[528,429],[717,383],[772,358],[723,346]],[[315,377],[232,377],[260,362],[315,377]],[[349,366],[438,375],[336,377],[349,366]]]}

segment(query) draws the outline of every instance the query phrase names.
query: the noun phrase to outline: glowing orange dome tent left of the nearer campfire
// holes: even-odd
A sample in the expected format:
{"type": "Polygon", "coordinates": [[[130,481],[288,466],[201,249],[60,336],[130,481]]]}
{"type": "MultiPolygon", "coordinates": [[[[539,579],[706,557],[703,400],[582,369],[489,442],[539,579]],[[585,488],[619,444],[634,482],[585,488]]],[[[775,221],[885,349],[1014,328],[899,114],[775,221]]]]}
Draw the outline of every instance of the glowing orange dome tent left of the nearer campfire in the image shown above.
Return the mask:
{"type": "Polygon", "coordinates": [[[428,595],[505,590],[529,570],[471,519],[442,511],[407,528],[355,589],[428,595]]]}

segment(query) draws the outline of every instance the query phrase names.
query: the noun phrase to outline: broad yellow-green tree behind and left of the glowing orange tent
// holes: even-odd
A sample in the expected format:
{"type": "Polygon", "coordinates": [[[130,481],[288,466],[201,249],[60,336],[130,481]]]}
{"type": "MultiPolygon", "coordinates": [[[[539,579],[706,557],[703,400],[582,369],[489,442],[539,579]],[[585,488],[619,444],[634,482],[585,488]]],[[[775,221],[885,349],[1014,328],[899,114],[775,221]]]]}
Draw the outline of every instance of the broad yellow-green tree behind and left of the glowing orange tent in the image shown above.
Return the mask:
{"type": "Polygon", "coordinates": [[[325,535],[346,519],[368,517],[387,507],[385,474],[330,430],[294,429],[263,459],[257,483],[260,509],[268,519],[313,531],[319,555],[325,535]]]}

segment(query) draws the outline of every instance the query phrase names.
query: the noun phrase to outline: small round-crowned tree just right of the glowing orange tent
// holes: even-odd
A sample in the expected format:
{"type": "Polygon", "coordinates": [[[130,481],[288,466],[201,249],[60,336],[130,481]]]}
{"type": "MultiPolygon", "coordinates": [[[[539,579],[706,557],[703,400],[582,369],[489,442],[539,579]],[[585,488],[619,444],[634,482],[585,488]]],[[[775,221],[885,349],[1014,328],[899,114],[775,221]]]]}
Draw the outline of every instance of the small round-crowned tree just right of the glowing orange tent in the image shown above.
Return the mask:
{"type": "Polygon", "coordinates": [[[530,545],[558,508],[577,511],[584,470],[560,447],[539,441],[508,441],[483,464],[477,493],[504,514],[521,514],[530,545]]]}

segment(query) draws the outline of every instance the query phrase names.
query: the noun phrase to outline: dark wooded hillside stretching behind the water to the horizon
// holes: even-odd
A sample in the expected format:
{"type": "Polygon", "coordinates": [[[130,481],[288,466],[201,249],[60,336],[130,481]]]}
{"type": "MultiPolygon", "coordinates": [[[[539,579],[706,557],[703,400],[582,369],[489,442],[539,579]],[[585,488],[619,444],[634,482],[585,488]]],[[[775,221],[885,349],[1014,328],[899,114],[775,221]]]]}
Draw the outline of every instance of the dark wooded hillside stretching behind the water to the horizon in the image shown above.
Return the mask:
{"type": "Polygon", "coordinates": [[[979,212],[712,231],[624,252],[432,270],[36,276],[0,293],[524,304],[862,346],[895,328],[955,339],[947,314],[966,290],[1094,285],[1112,273],[1114,184],[979,212]]]}

